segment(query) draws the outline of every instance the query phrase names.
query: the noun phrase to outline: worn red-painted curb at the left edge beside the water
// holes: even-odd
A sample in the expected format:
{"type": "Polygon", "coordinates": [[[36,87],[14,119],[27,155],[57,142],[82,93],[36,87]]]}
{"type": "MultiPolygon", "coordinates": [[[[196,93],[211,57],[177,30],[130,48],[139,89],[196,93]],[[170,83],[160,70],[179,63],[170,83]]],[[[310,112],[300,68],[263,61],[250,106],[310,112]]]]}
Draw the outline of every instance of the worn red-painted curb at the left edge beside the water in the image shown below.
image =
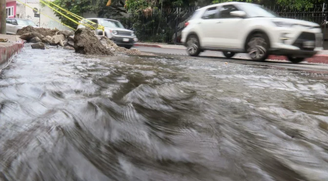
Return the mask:
{"type": "Polygon", "coordinates": [[[13,55],[21,52],[23,46],[23,41],[0,44],[0,70],[8,65],[8,63],[10,62],[10,58],[13,55]]]}

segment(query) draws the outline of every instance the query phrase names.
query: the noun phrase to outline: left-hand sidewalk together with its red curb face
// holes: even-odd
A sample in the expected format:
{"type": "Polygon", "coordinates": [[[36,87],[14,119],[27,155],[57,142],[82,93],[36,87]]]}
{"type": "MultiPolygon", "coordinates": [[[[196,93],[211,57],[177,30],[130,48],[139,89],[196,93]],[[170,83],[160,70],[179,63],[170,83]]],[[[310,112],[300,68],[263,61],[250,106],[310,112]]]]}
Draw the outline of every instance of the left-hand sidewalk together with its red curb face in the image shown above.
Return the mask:
{"type": "Polygon", "coordinates": [[[0,35],[0,39],[8,39],[7,42],[0,42],[0,70],[7,66],[10,58],[21,51],[24,41],[15,35],[0,35]]]}

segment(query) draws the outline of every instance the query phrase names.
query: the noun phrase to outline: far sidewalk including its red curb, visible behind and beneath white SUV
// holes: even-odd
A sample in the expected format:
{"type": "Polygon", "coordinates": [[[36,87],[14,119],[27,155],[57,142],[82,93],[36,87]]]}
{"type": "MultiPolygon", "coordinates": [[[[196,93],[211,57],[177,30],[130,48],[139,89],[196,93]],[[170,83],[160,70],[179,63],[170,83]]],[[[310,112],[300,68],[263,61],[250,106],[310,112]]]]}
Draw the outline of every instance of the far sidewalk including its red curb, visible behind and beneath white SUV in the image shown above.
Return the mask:
{"type": "MultiPolygon", "coordinates": [[[[168,49],[181,49],[185,50],[186,48],[183,45],[169,45],[169,44],[161,44],[161,43],[136,43],[134,46],[140,47],[155,47],[155,48],[168,48],[168,49]]],[[[240,58],[248,58],[247,54],[238,54],[240,58]]],[[[286,56],[277,56],[270,55],[268,57],[270,60],[287,60],[286,56]]],[[[324,63],[328,64],[328,50],[324,50],[314,55],[311,58],[307,58],[305,60],[308,63],[324,63]]]]}

